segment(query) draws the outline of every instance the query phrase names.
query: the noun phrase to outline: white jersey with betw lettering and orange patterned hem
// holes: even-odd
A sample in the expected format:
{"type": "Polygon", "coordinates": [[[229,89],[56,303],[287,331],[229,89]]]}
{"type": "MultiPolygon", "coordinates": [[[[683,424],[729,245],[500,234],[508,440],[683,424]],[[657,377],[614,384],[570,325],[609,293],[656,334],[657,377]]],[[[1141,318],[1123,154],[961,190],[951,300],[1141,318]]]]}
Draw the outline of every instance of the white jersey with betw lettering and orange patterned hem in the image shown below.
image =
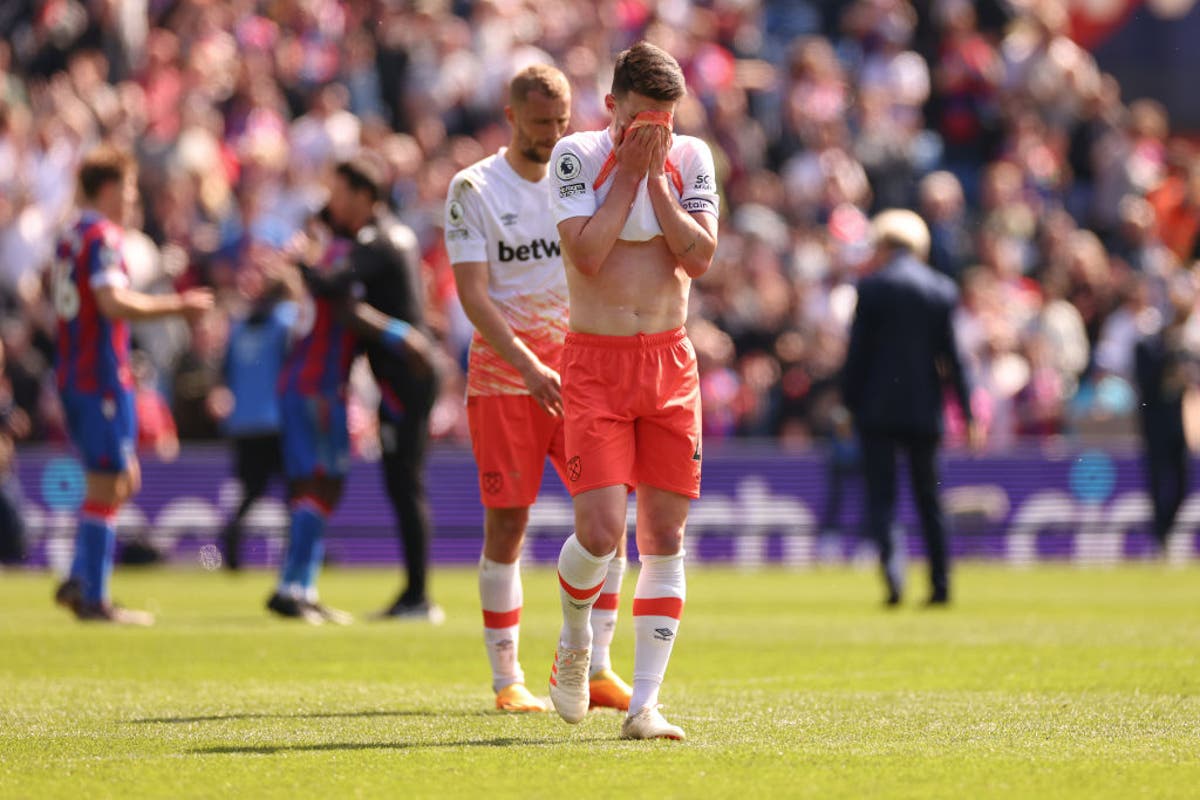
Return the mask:
{"type": "MultiPolygon", "coordinates": [[[[450,182],[445,243],[451,264],[486,261],[487,294],[512,332],[558,369],[566,338],[566,273],[550,207],[550,179],[528,181],[505,149],[450,182]]],[[[470,342],[468,395],[524,395],[524,380],[478,332],[470,342]]]]}

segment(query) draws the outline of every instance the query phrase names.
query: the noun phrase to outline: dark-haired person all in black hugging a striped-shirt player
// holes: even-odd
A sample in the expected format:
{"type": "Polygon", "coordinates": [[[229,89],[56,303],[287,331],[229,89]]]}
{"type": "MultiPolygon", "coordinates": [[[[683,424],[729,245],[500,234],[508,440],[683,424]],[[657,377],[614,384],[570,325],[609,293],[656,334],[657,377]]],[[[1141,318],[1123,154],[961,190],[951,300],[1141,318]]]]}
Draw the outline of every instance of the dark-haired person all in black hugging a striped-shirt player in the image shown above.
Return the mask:
{"type": "MultiPolygon", "coordinates": [[[[352,241],[346,269],[313,275],[310,288],[328,296],[358,293],[368,306],[425,331],[425,296],[416,235],[382,201],[389,194],[388,164],[371,151],[337,166],[325,209],[329,223],[352,241]],[[353,289],[352,289],[353,288],[353,289]]],[[[430,601],[430,504],[425,495],[425,456],[430,411],[437,399],[437,373],[416,368],[382,343],[366,343],[371,372],[379,385],[379,444],[384,485],[396,513],[404,554],[407,585],[378,616],[440,622],[442,609],[430,601]]]]}

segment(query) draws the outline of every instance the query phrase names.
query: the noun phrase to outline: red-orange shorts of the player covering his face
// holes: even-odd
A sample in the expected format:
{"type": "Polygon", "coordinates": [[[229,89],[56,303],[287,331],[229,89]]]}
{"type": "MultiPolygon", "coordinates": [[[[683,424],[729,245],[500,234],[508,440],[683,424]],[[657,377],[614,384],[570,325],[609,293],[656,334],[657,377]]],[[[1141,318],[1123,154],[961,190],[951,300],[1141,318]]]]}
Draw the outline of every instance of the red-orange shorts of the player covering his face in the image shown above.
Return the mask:
{"type": "Polygon", "coordinates": [[[683,327],[569,332],[562,375],[572,497],[638,483],[700,497],[700,374],[683,327]]]}

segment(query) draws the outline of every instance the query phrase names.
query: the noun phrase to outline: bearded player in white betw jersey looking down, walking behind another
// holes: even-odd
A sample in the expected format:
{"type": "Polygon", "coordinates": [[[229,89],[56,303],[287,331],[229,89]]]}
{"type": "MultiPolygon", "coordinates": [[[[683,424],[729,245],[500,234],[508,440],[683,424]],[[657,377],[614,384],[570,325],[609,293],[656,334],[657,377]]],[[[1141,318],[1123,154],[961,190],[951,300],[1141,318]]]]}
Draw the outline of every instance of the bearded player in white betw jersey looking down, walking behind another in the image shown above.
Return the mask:
{"type": "MultiPolygon", "coordinates": [[[[566,277],[550,204],[547,164],[571,116],[558,70],[536,65],[511,82],[509,146],[458,173],[446,198],[445,242],[458,297],[476,335],[467,415],[484,504],[479,596],[496,706],[545,711],[524,685],[520,642],[521,546],[548,456],[565,482],[558,375],[566,336],[566,277]]],[[[592,705],[629,708],[608,655],[617,624],[624,540],[592,618],[592,705]]]]}

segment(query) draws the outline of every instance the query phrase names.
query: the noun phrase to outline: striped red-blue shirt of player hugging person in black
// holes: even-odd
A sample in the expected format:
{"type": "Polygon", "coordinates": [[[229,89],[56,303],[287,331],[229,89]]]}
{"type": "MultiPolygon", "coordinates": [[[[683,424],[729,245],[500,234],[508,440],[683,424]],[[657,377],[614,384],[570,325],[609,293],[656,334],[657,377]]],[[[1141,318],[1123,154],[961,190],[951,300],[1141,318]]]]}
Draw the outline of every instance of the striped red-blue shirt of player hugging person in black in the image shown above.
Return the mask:
{"type": "MultiPolygon", "coordinates": [[[[335,240],[319,267],[323,271],[340,269],[353,246],[353,241],[335,240]]],[[[346,392],[359,344],[353,331],[337,318],[340,302],[338,297],[312,297],[301,307],[298,327],[308,330],[292,347],[283,365],[278,386],[281,395],[328,396],[346,392]]]]}

